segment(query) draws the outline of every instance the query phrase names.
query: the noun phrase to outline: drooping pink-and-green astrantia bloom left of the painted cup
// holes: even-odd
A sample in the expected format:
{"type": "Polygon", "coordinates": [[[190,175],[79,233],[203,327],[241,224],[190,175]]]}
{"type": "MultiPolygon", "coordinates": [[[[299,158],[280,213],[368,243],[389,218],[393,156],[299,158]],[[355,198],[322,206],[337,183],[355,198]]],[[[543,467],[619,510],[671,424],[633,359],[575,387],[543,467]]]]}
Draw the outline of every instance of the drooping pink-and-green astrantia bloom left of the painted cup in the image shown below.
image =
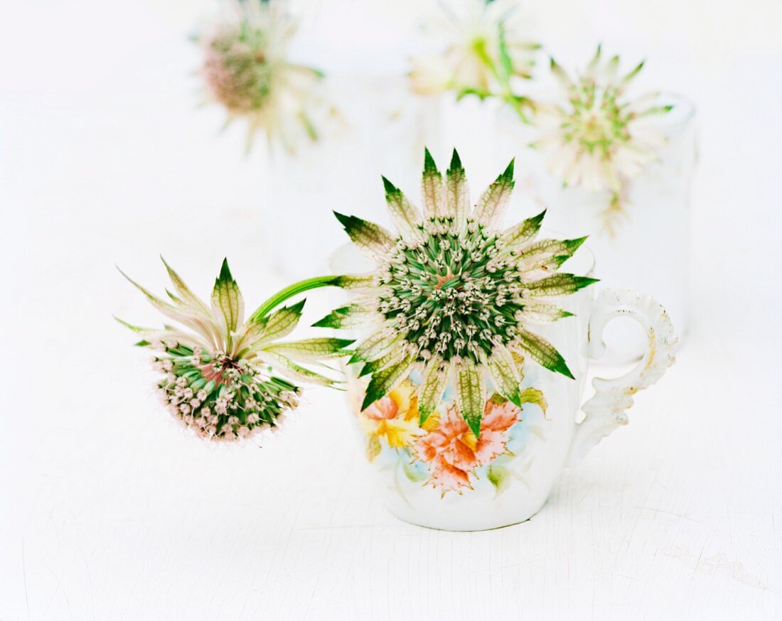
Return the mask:
{"type": "Polygon", "coordinates": [[[167,291],[170,302],[128,280],[156,309],[184,328],[156,330],[120,323],[142,336],[138,345],[156,351],[153,366],[163,373],[163,379],[156,383],[163,402],[200,437],[230,441],[278,426],[285,412],[299,402],[300,387],[292,382],[334,383],[294,361],[316,362],[345,355],[343,348],[352,341],[310,338],[280,342],[296,327],[304,302],[268,312],[291,292],[323,286],[331,279],[312,279],[303,286],[297,284],[298,288],[289,287],[245,322],[244,300],[227,261],[215,280],[210,305],[195,296],[168,264],[166,269],[176,291],[167,291]]]}

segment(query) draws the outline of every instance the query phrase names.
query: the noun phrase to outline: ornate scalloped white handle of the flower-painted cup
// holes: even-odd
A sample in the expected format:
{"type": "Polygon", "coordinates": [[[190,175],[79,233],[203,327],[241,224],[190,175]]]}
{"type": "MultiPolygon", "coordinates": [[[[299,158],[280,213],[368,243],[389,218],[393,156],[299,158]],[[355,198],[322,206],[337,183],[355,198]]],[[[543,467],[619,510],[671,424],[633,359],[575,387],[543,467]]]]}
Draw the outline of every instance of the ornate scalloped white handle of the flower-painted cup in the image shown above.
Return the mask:
{"type": "Polygon", "coordinates": [[[626,410],[633,405],[633,394],[650,387],[676,362],[673,350],[676,334],[671,319],[655,298],[632,289],[604,289],[594,300],[589,321],[590,358],[605,352],[603,330],[615,317],[632,317],[647,334],[644,357],[635,368],[612,380],[595,377],[595,394],[582,409],[587,415],[576,426],[568,455],[568,466],[577,466],[584,455],[617,427],[627,424],[626,410]]]}

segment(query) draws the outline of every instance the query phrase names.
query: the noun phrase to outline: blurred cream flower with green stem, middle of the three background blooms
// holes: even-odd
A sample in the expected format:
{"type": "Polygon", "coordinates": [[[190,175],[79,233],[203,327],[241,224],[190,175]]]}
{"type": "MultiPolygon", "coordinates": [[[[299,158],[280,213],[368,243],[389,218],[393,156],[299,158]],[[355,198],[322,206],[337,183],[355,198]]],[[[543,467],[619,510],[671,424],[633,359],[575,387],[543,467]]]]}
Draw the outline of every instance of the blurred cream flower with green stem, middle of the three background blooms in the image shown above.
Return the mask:
{"type": "Polygon", "coordinates": [[[428,25],[442,51],[412,59],[411,87],[419,95],[454,91],[458,98],[500,97],[523,114],[526,98],[514,82],[532,77],[534,52],[515,0],[451,0],[428,25]]]}

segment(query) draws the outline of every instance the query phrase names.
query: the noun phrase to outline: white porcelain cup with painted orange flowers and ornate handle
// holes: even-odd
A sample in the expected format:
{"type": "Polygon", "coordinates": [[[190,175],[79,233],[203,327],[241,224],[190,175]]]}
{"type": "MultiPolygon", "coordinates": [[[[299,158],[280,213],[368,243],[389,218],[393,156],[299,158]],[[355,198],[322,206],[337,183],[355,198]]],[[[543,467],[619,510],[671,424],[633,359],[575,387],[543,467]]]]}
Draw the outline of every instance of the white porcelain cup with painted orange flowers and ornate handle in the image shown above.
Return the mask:
{"type": "MultiPolygon", "coordinates": [[[[335,271],[361,271],[361,259],[353,252],[346,247],[335,255],[335,271]]],[[[568,269],[591,275],[594,257],[582,248],[568,269]]],[[[350,409],[394,515],[445,530],[485,530],[529,519],[551,494],[562,469],[576,466],[601,438],[626,424],[633,394],[654,384],[673,364],[676,336],[654,299],[630,289],[605,289],[595,298],[587,287],[561,298],[559,305],[575,316],[536,331],[561,352],[576,379],[529,360],[518,408],[494,394],[487,377],[479,439],[456,412],[452,385],[436,414],[421,426],[418,371],[361,412],[367,378],[348,369],[350,409]],[[622,377],[595,379],[595,394],[582,405],[590,360],[604,352],[604,327],[618,316],[632,317],[645,330],[644,356],[622,377]],[[579,409],[586,416],[577,423],[579,409]]]]}

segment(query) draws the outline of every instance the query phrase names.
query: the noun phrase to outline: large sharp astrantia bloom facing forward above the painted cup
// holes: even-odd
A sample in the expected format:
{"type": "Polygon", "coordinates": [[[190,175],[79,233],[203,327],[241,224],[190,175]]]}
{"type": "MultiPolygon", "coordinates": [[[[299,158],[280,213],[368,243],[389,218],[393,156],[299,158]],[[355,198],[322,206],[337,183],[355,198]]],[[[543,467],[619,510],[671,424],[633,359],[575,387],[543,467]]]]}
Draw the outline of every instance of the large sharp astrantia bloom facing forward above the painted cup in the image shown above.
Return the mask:
{"type": "Polygon", "coordinates": [[[419,366],[424,370],[418,389],[421,423],[453,379],[458,409],[477,437],[486,374],[517,404],[527,356],[572,377],[565,359],[534,326],[569,316],[551,298],[594,282],[558,272],[585,237],[536,241],[545,212],[500,228],[514,185],[513,162],[475,206],[455,151],[444,179],[425,152],[423,214],[389,180],[384,183],[398,231],[337,214],[376,269],[339,277],[357,298],[315,325],[374,327],[350,359],[363,364],[361,376],[371,374],[362,409],[419,366]]]}

